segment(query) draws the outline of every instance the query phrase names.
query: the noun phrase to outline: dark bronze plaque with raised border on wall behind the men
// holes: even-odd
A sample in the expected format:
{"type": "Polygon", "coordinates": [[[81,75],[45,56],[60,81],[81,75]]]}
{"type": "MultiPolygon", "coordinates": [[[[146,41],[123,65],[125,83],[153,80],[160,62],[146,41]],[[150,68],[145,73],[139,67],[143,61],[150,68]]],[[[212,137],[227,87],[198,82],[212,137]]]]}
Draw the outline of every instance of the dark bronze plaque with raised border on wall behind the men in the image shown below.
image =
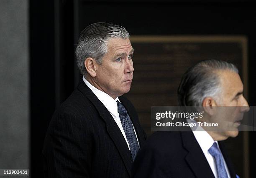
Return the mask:
{"type": "Polygon", "coordinates": [[[245,36],[131,36],[133,83],[126,94],[151,134],[151,106],[177,106],[177,88],[183,73],[200,60],[235,64],[247,97],[247,38],[245,36]]]}

